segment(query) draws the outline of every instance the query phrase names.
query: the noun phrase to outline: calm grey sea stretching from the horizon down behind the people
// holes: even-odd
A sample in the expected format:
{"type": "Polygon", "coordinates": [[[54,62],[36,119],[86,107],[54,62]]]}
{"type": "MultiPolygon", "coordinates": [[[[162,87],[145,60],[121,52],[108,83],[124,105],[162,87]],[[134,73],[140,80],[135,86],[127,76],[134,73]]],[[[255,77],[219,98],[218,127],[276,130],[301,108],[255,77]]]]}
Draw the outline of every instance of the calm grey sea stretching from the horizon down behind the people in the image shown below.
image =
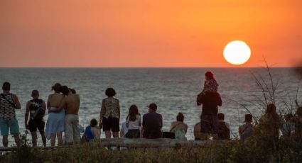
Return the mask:
{"type": "MultiPolygon", "coordinates": [[[[225,113],[225,120],[230,123],[232,137],[237,136],[237,128],[244,120],[247,111],[239,105],[244,104],[254,115],[261,114],[261,106],[257,105],[263,99],[259,86],[252,73],[261,74],[268,79],[265,69],[261,68],[37,68],[37,69],[0,69],[0,83],[11,82],[11,92],[17,94],[22,109],[16,111],[21,133],[24,133],[24,113],[26,102],[31,99],[31,91],[38,89],[41,99],[47,100],[52,94],[50,87],[59,82],[75,89],[80,94],[80,125],[86,126],[90,119],[99,119],[101,101],[105,98],[104,91],[113,87],[121,104],[121,123],[126,118],[129,106],[139,106],[141,114],[147,112],[149,103],[158,104],[158,113],[163,115],[163,130],[169,130],[178,112],[185,115],[188,124],[187,137],[193,139],[193,126],[198,123],[200,106],[196,106],[196,95],[203,88],[205,71],[215,73],[218,91],[223,97],[223,105],[219,112],[225,113]],[[254,96],[256,95],[256,96],[254,96]],[[235,102],[238,101],[239,103],[235,102]]],[[[298,86],[298,77],[290,68],[271,69],[274,82],[279,82],[279,111],[287,110],[282,103],[293,103],[298,86]]],[[[268,81],[268,80],[267,80],[268,81]]],[[[301,100],[301,91],[298,99],[301,100]]],[[[45,116],[47,120],[48,115],[45,116]]],[[[104,137],[104,133],[102,133],[104,137]]],[[[2,139],[2,137],[0,138],[2,139]]],[[[10,145],[13,141],[9,137],[10,145]]],[[[38,140],[41,144],[41,139],[38,140]]]]}

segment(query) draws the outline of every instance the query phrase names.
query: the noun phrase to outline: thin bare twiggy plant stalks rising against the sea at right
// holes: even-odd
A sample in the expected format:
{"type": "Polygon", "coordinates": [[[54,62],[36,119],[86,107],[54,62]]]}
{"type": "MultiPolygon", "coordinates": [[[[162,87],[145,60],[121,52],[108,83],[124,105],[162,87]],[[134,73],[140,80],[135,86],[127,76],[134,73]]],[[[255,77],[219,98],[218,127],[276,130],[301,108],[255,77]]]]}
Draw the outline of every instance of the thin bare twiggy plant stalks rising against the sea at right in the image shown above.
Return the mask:
{"type": "MultiPolygon", "coordinates": [[[[302,81],[301,78],[296,89],[296,96],[294,96],[293,99],[293,96],[291,96],[292,94],[289,94],[288,90],[283,90],[283,91],[279,90],[279,86],[281,86],[280,79],[274,79],[273,77],[274,75],[271,72],[271,68],[269,67],[269,64],[266,62],[265,58],[264,58],[264,63],[265,63],[264,69],[265,72],[267,73],[266,77],[264,77],[263,74],[261,73],[256,74],[254,72],[251,72],[252,77],[254,78],[258,86],[258,89],[253,90],[252,94],[250,94],[252,99],[249,99],[248,101],[243,100],[244,102],[242,103],[224,96],[224,99],[237,103],[240,107],[244,108],[248,113],[252,114],[252,117],[256,124],[259,123],[258,122],[259,118],[257,118],[257,116],[255,116],[255,114],[252,113],[251,108],[249,108],[249,106],[254,106],[257,109],[259,109],[261,113],[264,113],[266,110],[266,106],[269,103],[274,103],[277,106],[277,108],[281,108],[279,109],[279,114],[283,120],[286,113],[293,113],[293,111],[296,111],[295,108],[298,107],[299,84],[302,81]],[[284,109],[286,109],[286,111],[284,109]]],[[[238,111],[238,117],[239,117],[239,111],[238,111]]],[[[241,123],[239,119],[238,122],[241,123]]]]}

